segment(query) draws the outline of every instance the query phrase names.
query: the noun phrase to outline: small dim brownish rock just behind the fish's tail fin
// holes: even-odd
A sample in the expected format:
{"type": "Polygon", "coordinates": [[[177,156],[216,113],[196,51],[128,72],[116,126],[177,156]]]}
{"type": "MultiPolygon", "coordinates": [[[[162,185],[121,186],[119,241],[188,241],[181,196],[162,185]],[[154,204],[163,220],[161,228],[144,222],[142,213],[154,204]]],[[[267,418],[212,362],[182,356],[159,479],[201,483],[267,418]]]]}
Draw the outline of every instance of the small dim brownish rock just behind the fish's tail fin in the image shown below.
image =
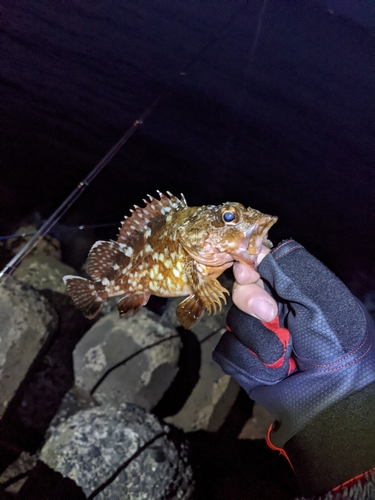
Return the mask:
{"type": "Polygon", "coordinates": [[[77,272],[54,257],[46,257],[40,254],[23,259],[14,272],[16,278],[29,283],[37,290],[48,289],[59,293],[66,293],[63,282],[63,276],[66,274],[75,275],[77,272]]]}

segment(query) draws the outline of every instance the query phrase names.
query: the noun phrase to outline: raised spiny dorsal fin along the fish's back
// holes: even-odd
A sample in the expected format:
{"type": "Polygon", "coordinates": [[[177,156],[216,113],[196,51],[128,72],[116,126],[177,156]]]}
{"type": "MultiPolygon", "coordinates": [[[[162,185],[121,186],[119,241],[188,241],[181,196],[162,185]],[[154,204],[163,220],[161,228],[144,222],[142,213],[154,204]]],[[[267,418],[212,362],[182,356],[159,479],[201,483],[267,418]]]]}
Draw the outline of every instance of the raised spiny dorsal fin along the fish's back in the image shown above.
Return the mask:
{"type": "Polygon", "coordinates": [[[160,200],[147,195],[150,201],[143,200],[146,203],[145,207],[138,207],[134,205],[134,210],[130,210],[131,215],[125,216],[119,228],[117,242],[121,244],[131,244],[131,241],[137,240],[137,236],[152,230],[152,227],[157,225],[160,219],[164,217],[171,210],[181,210],[187,207],[187,203],[183,194],[181,199],[174,196],[167,191],[167,195],[158,191],[160,200]]]}

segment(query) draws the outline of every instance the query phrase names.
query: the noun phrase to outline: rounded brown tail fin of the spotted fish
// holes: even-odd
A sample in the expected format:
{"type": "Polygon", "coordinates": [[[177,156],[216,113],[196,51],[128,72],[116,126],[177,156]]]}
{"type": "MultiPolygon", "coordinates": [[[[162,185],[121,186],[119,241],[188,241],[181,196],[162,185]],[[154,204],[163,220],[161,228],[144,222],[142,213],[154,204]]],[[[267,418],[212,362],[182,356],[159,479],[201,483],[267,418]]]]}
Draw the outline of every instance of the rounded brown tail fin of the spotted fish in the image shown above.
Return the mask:
{"type": "Polygon", "coordinates": [[[91,281],[79,276],[64,276],[67,292],[73,304],[88,318],[94,318],[104,304],[108,293],[100,281],[91,281]]]}

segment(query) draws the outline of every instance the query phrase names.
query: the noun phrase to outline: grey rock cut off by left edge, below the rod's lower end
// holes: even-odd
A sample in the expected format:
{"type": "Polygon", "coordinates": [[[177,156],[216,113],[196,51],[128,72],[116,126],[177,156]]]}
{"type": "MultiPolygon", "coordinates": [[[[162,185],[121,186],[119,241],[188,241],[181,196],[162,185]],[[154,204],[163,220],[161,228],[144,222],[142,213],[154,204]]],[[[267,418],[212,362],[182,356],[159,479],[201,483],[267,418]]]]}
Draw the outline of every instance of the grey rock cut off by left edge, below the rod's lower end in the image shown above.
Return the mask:
{"type": "Polygon", "coordinates": [[[1,418],[58,321],[47,299],[7,276],[0,287],[0,325],[1,418]]]}

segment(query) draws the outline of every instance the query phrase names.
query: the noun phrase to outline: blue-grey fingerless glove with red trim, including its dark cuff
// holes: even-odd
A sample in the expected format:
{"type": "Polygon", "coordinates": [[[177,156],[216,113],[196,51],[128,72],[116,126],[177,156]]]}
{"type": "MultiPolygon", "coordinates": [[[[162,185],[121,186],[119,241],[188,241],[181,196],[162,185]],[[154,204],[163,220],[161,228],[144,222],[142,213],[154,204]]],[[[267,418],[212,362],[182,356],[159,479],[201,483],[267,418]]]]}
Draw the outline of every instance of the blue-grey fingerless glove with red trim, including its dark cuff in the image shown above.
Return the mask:
{"type": "Polygon", "coordinates": [[[269,444],[283,449],[303,493],[322,494],[375,466],[374,324],[293,240],[258,272],[278,315],[265,323],[233,306],[213,358],[274,416],[269,444]]]}

